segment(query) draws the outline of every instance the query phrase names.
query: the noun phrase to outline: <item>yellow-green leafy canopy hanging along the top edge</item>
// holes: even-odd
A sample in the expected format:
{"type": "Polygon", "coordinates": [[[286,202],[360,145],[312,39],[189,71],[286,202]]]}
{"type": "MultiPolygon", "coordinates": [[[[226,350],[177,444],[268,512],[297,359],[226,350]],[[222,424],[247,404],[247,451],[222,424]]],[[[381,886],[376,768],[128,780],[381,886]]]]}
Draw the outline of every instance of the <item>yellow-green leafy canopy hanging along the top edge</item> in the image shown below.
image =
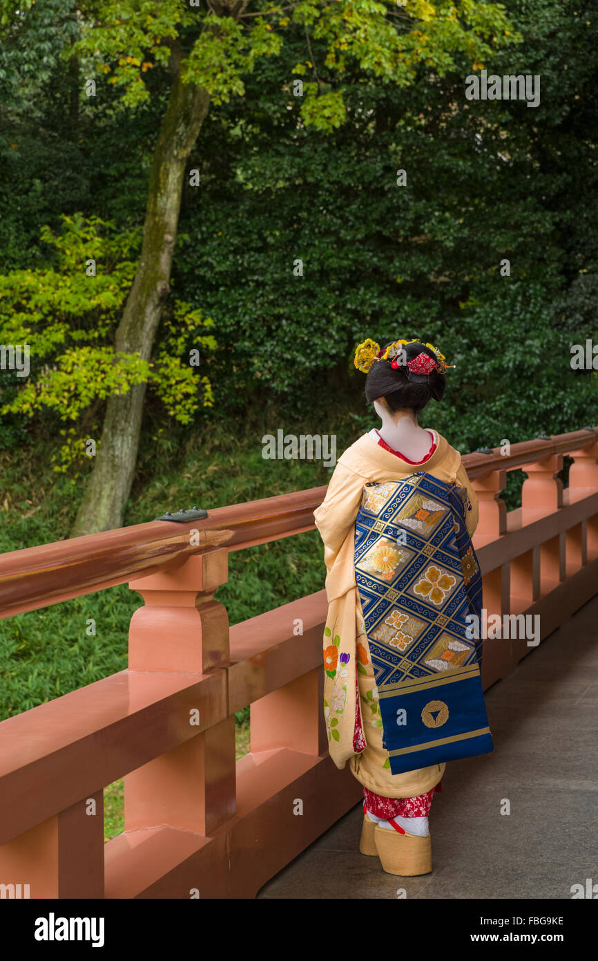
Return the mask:
{"type": "MultiPolygon", "coordinates": [[[[95,74],[122,89],[121,101],[135,107],[150,99],[148,73],[164,68],[171,52],[181,63],[185,83],[203,86],[215,106],[245,93],[247,78],[257,63],[278,56],[288,37],[304,32],[308,57],[304,65],[314,70],[316,84],[305,87],[301,119],[307,126],[330,132],[345,116],[347,78],[367,71],[382,83],[407,86],[414,82],[419,64],[443,74],[454,66],[455,55],[465,54],[472,64],[493,49],[520,40],[500,4],[474,0],[411,0],[409,13],[391,2],[299,0],[272,6],[255,0],[230,13],[226,5],[189,8],[182,0],[125,0],[84,5],[82,36],[72,46],[89,76],[95,74]],[[423,29],[419,29],[419,28],[423,29]],[[309,31],[323,47],[318,68],[312,62],[309,31]],[[334,83],[336,90],[326,84],[334,83]],[[323,86],[324,85],[324,86],[323,86]]],[[[296,63],[303,72],[303,63],[296,63]]]]}

